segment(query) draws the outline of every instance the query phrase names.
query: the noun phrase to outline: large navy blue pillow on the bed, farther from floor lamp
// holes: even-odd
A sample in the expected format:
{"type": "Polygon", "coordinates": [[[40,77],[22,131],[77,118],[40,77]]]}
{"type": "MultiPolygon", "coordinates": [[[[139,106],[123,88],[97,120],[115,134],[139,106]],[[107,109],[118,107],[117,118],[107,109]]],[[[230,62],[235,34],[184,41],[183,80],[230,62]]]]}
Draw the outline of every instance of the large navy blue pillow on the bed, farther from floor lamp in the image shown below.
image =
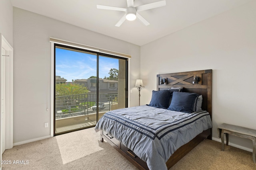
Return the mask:
{"type": "Polygon", "coordinates": [[[173,92],[172,102],[168,109],[173,111],[192,113],[195,99],[198,96],[199,94],[197,93],[173,92]]]}

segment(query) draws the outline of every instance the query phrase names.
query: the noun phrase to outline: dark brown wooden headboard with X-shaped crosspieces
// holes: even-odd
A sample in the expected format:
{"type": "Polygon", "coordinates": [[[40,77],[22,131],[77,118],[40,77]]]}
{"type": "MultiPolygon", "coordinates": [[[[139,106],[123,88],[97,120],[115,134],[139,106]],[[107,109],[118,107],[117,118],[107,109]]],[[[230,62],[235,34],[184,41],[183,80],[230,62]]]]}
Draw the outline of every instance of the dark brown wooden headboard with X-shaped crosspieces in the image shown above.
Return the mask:
{"type": "Polygon", "coordinates": [[[207,110],[212,118],[212,70],[158,74],[156,82],[157,90],[182,86],[182,92],[202,94],[202,109],[207,110]],[[201,78],[198,84],[192,84],[195,76],[201,78]],[[162,78],[166,79],[164,84],[160,84],[162,78]]]}

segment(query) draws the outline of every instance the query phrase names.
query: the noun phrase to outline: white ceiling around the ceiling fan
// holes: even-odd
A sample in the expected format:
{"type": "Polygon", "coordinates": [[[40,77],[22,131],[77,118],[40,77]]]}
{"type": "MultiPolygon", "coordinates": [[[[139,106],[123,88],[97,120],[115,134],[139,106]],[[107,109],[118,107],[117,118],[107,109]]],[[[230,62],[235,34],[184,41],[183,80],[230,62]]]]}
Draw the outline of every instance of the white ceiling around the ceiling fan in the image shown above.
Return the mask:
{"type": "MultiPolygon", "coordinates": [[[[160,0],[134,0],[134,6],[157,1],[160,0]]],[[[126,8],[126,0],[11,0],[17,8],[140,46],[249,1],[166,0],[166,6],[139,12],[150,25],[126,20],[116,27],[124,12],[101,10],[96,5],[126,8]]]]}

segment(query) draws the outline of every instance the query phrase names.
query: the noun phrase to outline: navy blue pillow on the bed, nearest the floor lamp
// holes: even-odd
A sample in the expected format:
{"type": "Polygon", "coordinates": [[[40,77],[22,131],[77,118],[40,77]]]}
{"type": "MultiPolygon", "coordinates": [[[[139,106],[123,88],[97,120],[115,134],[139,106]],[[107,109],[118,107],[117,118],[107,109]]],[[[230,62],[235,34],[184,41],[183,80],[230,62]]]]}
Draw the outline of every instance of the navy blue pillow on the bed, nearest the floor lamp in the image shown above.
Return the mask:
{"type": "Polygon", "coordinates": [[[169,90],[152,91],[152,98],[150,104],[147,106],[158,107],[166,109],[170,104],[172,92],[169,90]]]}

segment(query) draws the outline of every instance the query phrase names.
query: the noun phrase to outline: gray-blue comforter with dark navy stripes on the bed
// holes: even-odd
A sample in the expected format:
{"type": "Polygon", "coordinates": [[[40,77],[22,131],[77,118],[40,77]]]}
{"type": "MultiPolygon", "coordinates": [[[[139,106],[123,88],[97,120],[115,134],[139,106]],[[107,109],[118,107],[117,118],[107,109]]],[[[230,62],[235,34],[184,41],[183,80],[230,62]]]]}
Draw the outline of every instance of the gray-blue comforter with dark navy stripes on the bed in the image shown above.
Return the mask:
{"type": "Polygon", "coordinates": [[[175,150],[209,128],[207,111],[183,113],[144,105],[105,113],[95,130],[121,141],[150,170],[167,170],[165,162],[175,150]]]}

